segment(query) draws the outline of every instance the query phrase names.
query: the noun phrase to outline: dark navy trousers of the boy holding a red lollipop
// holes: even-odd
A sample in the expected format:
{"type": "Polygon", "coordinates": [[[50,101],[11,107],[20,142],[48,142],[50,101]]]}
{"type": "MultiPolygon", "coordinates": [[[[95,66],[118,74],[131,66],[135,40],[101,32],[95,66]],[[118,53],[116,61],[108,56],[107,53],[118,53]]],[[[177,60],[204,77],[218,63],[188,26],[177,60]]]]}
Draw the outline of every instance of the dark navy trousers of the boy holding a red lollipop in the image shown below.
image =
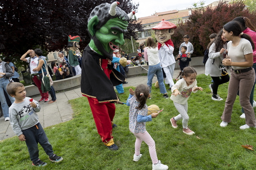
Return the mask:
{"type": "Polygon", "coordinates": [[[25,142],[29,150],[31,161],[35,162],[39,159],[38,143],[43,147],[45,153],[49,157],[53,156],[53,147],[49,143],[40,123],[36,124],[36,126],[30,127],[29,129],[22,130],[22,133],[26,138],[25,142]]]}

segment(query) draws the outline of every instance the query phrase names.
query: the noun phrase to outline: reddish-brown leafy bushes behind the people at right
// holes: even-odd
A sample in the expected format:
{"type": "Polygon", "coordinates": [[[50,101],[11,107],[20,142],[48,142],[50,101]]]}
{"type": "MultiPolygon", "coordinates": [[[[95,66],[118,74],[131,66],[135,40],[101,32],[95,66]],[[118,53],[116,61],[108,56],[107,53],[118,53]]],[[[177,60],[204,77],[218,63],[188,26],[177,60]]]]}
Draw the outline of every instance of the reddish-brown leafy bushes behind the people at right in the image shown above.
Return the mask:
{"type": "Polygon", "coordinates": [[[209,35],[218,33],[227,22],[236,17],[244,16],[255,23],[256,13],[250,12],[244,6],[242,0],[231,4],[221,1],[216,7],[198,8],[192,11],[192,14],[189,15],[189,20],[185,23],[180,22],[172,36],[172,41],[175,45],[174,55],[178,54],[179,45],[184,42],[183,36],[185,34],[189,35],[190,42],[194,46],[192,57],[202,56],[210,42],[209,35]]]}

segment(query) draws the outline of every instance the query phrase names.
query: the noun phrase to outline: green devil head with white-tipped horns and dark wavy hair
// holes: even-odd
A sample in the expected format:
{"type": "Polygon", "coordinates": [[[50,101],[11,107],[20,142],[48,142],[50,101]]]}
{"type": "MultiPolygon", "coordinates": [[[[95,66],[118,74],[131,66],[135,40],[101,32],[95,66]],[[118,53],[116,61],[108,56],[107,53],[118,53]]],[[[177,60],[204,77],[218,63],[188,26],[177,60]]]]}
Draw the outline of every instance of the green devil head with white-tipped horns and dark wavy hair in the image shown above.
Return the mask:
{"type": "Polygon", "coordinates": [[[88,32],[91,38],[89,46],[100,55],[112,61],[113,51],[124,44],[123,34],[127,32],[130,18],[135,14],[126,14],[118,8],[119,2],[101,4],[95,7],[88,19],[88,32]]]}

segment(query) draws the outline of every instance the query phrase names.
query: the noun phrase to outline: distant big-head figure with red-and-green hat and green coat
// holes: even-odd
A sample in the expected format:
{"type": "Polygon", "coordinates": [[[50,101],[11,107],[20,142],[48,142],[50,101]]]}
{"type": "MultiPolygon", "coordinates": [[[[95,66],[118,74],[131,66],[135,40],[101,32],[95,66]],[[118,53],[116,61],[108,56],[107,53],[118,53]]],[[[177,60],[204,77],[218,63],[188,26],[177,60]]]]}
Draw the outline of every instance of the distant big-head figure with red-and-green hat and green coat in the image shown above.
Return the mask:
{"type": "Polygon", "coordinates": [[[81,74],[81,67],[79,66],[77,58],[77,50],[80,47],[79,42],[82,41],[79,36],[71,37],[68,35],[68,63],[75,68],[75,75],[81,74]]]}

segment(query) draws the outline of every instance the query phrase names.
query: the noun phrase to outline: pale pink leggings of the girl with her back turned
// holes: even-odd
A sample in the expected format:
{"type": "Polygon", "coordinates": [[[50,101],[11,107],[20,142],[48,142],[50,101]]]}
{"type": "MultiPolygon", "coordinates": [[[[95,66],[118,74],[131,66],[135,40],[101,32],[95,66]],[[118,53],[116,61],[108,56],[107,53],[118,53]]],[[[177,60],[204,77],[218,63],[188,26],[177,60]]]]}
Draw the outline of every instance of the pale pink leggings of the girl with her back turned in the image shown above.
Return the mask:
{"type": "Polygon", "coordinates": [[[158,163],[156,144],[155,144],[154,139],[150,136],[150,134],[147,131],[145,131],[144,133],[133,133],[133,135],[136,137],[135,155],[140,155],[140,146],[141,146],[142,141],[144,141],[148,145],[148,150],[150,152],[150,157],[151,157],[152,163],[153,164],[158,163]]]}

